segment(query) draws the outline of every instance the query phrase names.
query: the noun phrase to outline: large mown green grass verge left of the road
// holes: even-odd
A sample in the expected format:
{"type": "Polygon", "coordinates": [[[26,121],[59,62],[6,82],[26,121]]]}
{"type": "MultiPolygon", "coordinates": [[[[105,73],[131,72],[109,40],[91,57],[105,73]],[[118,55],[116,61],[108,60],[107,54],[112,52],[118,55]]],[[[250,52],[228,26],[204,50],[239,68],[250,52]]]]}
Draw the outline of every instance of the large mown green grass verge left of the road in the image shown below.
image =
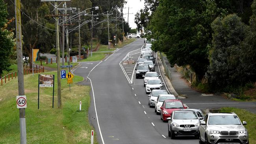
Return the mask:
{"type": "MultiPolygon", "coordinates": [[[[55,74],[54,108],[52,88],[40,88],[40,109],[37,109],[38,74],[24,76],[24,90],[27,96],[26,132],[28,144],[89,144],[93,127],[88,120],[90,103],[89,86],[76,85],[83,78],[75,76],[74,84],[61,79],[62,108],[57,108],[57,74],[55,74]],[[82,101],[82,111],[79,102],[82,101]]],[[[18,94],[17,79],[0,87],[0,143],[18,144],[20,141],[19,110],[16,106],[18,94]]],[[[95,137],[96,142],[96,137],[95,137]]],[[[97,142],[96,142],[97,143],[97,142]]]]}

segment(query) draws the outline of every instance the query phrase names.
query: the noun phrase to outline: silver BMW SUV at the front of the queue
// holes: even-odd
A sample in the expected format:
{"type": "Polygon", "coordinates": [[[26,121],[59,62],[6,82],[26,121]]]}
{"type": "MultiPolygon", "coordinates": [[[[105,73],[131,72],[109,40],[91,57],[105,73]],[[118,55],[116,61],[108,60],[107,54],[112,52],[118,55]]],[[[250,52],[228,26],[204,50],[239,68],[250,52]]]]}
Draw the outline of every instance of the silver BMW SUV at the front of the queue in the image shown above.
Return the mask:
{"type": "Polygon", "coordinates": [[[246,124],[235,113],[208,113],[199,128],[199,144],[249,144],[246,124]]]}

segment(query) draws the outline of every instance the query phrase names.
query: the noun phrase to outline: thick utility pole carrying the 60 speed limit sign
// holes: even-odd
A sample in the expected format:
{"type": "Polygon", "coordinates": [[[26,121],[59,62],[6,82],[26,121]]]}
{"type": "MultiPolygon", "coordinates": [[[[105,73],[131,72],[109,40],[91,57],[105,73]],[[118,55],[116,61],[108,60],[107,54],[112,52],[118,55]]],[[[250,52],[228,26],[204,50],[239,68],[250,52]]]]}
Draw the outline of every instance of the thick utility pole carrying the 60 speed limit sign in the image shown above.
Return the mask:
{"type": "MultiPolygon", "coordinates": [[[[20,18],[20,0],[15,0],[15,20],[16,20],[16,49],[17,49],[17,64],[18,64],[18,89],[19,96],[24,95],[24,76],[22,63],[22,38],[21,38],[21,18],[20,18]]],[[[26,118],[25,108],[19,109],[20,117],[20,144],[26,144],[26,118]]]]}

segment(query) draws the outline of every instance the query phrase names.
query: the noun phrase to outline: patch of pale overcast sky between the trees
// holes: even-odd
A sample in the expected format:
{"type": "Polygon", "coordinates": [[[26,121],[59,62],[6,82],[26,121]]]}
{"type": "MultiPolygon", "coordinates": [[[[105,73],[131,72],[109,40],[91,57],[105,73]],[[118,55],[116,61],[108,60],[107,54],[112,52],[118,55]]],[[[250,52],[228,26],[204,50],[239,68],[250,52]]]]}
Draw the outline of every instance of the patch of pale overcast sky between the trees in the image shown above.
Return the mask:
{"type": "MultiPolygon", "coordinates": [[[[129,14],[129,25],[132,29],[137,28],[136,24],[134,23],[134,18],[135,18],[135,14],[140,10],[143,9],[144,7],[144,0],[126,0],[127,4],[124,5],[124,9],[123,9],[123,13],[128,13],[128,7],[129,8],[129,13],[133,13],[133,14],[129,14]]],[[[127,18],[128,15],[124,15],[124,19],[127,22],[127,18]]]]}

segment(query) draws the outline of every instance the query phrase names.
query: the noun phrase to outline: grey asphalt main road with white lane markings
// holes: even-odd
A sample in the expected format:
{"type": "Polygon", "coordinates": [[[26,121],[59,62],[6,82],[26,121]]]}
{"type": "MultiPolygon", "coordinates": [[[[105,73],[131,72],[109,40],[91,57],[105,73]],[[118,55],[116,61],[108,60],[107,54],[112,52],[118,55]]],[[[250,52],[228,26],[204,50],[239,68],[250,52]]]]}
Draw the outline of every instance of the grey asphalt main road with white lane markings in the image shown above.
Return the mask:
{"type": "MultiPolygon", "coordinates": [[[[198,140],[194,137],[177,137],[175,140],[168,137],[167,122],[162,122],[160,115],[154,113],[154,108],[148,106],[143,79],[135,79],[134,65],[122,65],[121,62],[127,60],[130,54],[134,60],[139,57],[138,49],[143,46],[143,41],[138,39],[103,61],[92,62],[93,64],[80,63],[74,70],[74,74],[85,78],[82,84],[92,86],[89,120],[95,127],[98,142],[100,144],[198,144],[198,140]]],[[[159,73],[157,62],[155,69],[159,73]]],[[[186,89],[182,92],[186,93],[186,89]]],[[[190,108],[237,105],[237,102],[230,102],[220,96],[198,97],[197,94],[182,101],[190,108]],[[200,99],[202,99],[200,103],[208,104],[198,104],[200,99]]]]}

